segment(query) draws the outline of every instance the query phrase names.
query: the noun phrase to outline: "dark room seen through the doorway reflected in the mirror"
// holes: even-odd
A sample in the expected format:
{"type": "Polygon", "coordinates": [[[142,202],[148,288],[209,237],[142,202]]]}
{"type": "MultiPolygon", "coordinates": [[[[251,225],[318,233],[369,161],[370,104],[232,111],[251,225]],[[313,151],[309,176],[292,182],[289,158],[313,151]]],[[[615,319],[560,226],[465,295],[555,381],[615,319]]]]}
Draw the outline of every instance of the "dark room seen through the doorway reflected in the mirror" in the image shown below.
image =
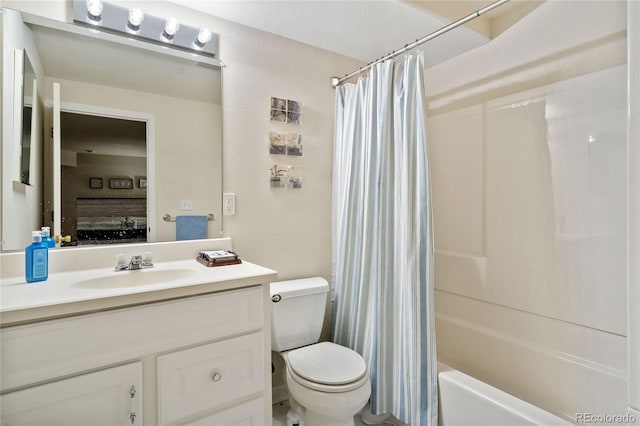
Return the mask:
{"type": "Polygon", "coordinates": [[[71,245],[147,241],[146,135],[143,121],[61,114],[62,233],[71,245]]]}

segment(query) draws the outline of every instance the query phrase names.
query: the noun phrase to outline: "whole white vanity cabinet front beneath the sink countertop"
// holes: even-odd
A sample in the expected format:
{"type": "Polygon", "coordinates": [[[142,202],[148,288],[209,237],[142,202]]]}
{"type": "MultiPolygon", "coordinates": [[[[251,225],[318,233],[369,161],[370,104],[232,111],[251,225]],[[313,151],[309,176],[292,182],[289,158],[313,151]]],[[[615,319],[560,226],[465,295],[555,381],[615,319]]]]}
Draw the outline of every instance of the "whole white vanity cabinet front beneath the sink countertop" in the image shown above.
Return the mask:
{"type": "Polygon", "coordinates": [[[3,328],[1,423],[271,424],[268,297],[261,284],[3,328]]]}

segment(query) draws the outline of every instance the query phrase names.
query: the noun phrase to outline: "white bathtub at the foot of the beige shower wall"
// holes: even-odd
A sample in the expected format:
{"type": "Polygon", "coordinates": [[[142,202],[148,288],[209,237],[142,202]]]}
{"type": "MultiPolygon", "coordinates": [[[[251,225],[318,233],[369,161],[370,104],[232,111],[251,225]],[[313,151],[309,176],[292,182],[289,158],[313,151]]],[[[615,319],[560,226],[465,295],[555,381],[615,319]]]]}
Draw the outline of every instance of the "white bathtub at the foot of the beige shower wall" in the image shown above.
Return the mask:
{"type": "Polygon", "coordinates": [[[441,363],[438,393],[439,426],[573,424],[441,363]]]}

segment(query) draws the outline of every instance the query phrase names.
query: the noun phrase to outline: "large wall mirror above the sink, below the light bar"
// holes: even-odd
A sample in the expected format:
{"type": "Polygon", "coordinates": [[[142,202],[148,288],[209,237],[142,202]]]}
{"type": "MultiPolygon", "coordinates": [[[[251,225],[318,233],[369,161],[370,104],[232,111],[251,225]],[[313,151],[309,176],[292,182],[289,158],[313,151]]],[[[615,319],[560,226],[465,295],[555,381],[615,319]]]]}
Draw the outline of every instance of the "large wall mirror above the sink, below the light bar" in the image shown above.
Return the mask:
{"type": "Polygon", "coordinates": [[[42,151],[32,165],[41,169],[42,195],[36,206],[12,202],[21,190],[5,184],[12,176],[3,168],[2,249],[28,244],[30,230],[11,232],[25,208],[73,246],[175,240],[179,216],[206,217],[203,236],[219,237],[221,63],[39,16],[2,15],[3,55],[18,25],[6,21],[18,16],[26,34],[19,38],[42,70],[44,104],[42,147],[30,147],[32,155],[42,151]]]}

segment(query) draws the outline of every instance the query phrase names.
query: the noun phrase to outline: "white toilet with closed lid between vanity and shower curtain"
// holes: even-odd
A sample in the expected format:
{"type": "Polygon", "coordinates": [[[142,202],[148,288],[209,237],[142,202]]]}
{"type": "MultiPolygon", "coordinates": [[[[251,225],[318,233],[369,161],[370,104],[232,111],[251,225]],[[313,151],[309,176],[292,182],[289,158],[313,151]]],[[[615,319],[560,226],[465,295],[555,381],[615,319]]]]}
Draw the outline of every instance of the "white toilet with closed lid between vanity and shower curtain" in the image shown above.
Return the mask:
{"type": "Polygon", "coordinates": [[[317,343],[329,284],[323,278],[271,283],[271,349],[286,364],[289,422],[305,426],[353,426],[371,394],[369,372],[357,352],[317,343]]]}

